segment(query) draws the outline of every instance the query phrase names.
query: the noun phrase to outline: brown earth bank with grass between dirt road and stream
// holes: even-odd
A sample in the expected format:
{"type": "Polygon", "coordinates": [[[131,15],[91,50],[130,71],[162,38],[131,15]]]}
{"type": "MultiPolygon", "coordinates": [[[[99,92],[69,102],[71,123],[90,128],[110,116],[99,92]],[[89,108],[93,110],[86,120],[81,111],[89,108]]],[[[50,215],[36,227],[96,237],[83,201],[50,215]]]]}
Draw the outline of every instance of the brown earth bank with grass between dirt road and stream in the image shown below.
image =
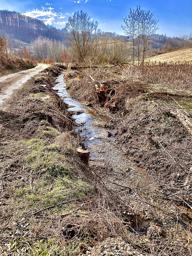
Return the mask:
{"type": "Polygon", "coordinates": [[[67,253],[63,220],[55,221],[55,214],[76,207],[53,205],[86,197],[90,189],[77,174],[82,166],[75,154],[78,144],[70,134],[72,119],[65,118],[65,105],[52,90],[62,70],[46,68],[0,110],[1,255],[67,253]],[[49,206],[50,210],[34,215],[49,206]]]}

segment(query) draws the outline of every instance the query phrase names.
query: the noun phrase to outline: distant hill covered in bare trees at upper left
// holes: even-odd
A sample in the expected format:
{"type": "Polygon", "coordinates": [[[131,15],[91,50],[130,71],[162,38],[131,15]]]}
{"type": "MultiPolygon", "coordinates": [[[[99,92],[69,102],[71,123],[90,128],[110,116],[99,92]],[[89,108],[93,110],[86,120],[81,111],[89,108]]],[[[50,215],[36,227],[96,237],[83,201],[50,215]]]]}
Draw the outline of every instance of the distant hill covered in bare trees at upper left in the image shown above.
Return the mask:
{"type": "Polygon", "coordinates": [[[25,16],[18,12],[0,10],[0,36],[8,35],[25,43],[38,36],[63,41],[63,32],[52,26],[46,26],[41,20],[25,16]]]}

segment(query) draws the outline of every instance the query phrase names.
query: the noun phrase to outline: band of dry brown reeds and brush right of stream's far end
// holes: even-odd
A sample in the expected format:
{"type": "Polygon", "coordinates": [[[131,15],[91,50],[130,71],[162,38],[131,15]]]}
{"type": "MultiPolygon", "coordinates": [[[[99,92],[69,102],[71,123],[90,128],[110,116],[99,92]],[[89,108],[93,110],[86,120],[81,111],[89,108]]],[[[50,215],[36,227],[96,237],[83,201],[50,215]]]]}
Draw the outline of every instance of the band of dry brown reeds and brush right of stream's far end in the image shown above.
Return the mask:
{"type": "Polygon", "coordinates": [[[190,97],[192,93],[192,61],[146,62],[143,65],[98,66],[68,71],[69,92],[76,99],[84,102],[97,102],[95,83],[111,81],[119,84],[108,84],[116,90],[121,98],[134,92],[158,92],[170,96],[190,97]],[[77,76],[82,78],[77,82],[77,76]],[[91,80],[90,76],[94,79],[91,80]],[[85,85],[86,84],[86,85],[85,85]]]}

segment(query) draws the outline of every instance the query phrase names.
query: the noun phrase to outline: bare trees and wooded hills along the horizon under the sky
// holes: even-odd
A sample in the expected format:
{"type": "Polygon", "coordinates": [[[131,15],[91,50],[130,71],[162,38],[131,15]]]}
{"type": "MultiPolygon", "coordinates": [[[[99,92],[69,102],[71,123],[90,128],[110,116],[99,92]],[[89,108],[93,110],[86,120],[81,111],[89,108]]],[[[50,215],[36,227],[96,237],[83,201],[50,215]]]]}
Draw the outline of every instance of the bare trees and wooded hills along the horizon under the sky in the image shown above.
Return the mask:
{"type": "MultiPolygon", "coordinates": [[[[169,51],[172,48],[189,46],[192,43],[191,35],[184,37],[170,38],[166,35],[156,34],[158,20],[150,10],[130,9],[130,13],[124,19],[126,37],[118,36],[116,33],[104,33],[98,29],[98,22],[94,22],[88,13],[77,11],[62,30],[50,28],[38,20],[27,17],[17,12],[0,11],[0,28],[10,33],[16,33],[19,29],[21,37],[24,35],[34,38],[30,44],[22,45],[20,41],[10,40],[10,52],[20,54],[23,48],[27,47],[31,56],[37,60],[53,58],[60,60],[60,54],[64,50],[68,52],[74,62],[108,62],[118,63],[132,59],[143,63],[147,53],[169,51]],[[57,31],[62,34],[54,38],[52,33],[57,31]],[[51,31],[51,32],[50,32],[51,31]],[[49,32],[51,35],[49,35],[49,32]],[[48,36],[46,36],[48,35],[48,36]]],[[[28,39],[29,40],[29,39],[28,39]]]]}

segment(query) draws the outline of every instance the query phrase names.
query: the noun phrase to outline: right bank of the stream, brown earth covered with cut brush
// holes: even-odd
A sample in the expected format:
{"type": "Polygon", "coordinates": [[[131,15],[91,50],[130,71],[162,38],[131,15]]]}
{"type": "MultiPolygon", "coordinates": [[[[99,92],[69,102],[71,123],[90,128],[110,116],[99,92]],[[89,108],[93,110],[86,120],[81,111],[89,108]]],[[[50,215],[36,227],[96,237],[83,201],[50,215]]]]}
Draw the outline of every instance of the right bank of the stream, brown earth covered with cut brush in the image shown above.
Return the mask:
{"type": "MultiPolygon", "coordinates": [[[[155,85],[132,77],[125,78],[122,73],[119,67],[80,68],[69,70],[65,79],[73,98],[108,118],[106,129],[109,136],[114,136],[119,150],[139,168],[143,168],[146,172],[143,172],[144,175],[154,180],[164,209],[169,211],[169,205],[172,205],[178,219],[183,218],[190,225],[192,125],[186,128],[175,112],[179,109],[192,123],[192,100],[188,95],[182,97],[182,92],[177,94],[171,89],[170,95],[169,92],[160,91],[160,87],[154,90],[155,85]],[[100,86],[104,81],[108,82],[108,89],[115,90],[115,95],[105,98],[106,107],[99,104],[95,88],[95,84],[100,86]],[[114,111],[111,112],[108,102],[110,106],[116,103],[114,111]]],[[[108,164],[98,164],[100,169],[107,170],[108,164]]],[[[145,187],[145,182],[143,185],[145,187]]],[[[119,193],[119,189],[117,191],[119,193]]],[[[147,209],[147,204],[145,207],[147,209]]],[[[174,237],[177,224],[175,227],[174,237]]],[[[188,228],[186,232],[190,236],[188,228]]]]}

